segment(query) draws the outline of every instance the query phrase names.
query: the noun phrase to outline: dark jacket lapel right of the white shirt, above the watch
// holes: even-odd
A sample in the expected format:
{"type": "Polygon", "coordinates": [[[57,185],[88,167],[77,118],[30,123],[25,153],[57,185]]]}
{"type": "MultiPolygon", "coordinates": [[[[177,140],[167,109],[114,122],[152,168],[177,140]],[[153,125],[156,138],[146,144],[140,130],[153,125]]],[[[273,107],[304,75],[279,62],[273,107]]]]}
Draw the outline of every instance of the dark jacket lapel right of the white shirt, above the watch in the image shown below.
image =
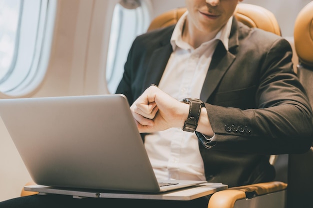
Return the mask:
{"type": "MultiPolygon", "coordinates": [[[[235,53],[238,46],[238,25],[235,18],[233,18],[232,26],[229,35],[229,51],[235,53]]],[[[222,79],[225,72],[235,60],[235,55],[225,49],[221,41],[218,42],[216,49],[212,56],[212,61],[207,70],[204,79],[203,87],[200,93],[200,99],[206,101],[216,86],[222,79]]]]}

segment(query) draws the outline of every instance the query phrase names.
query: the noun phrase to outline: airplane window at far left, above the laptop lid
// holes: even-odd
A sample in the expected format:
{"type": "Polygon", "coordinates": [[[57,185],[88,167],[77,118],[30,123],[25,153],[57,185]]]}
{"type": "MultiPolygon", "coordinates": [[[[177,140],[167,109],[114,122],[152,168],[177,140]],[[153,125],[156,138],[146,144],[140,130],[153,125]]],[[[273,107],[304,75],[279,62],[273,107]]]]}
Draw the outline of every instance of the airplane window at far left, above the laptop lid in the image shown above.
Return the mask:
{"type": "Polygon", "coordinates": [[[0,91],[22,96],[41,82],[56,0],[0,0],[0,91]]]}

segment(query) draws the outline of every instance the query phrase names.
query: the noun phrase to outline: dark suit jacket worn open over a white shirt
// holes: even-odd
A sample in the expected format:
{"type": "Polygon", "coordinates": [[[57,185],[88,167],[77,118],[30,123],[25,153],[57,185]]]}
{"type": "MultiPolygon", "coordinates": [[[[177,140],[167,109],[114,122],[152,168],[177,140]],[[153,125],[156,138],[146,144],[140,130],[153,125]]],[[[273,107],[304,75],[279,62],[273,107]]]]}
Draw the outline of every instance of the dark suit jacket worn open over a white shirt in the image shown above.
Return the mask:
{"type": "MultiPolygon", "coordinates": [[[[305,152],[313,139],[312,112],[292,70],[289,43],[233,19],[229,51],[217,44],[200,95],[216,138],[206,147],[199,140],[205,177],[229,187],[273,180],[269,155],[305,152]]],[[[173,28],[134,40],[116,90],[129,104],[159,83],[173,28]]]]}

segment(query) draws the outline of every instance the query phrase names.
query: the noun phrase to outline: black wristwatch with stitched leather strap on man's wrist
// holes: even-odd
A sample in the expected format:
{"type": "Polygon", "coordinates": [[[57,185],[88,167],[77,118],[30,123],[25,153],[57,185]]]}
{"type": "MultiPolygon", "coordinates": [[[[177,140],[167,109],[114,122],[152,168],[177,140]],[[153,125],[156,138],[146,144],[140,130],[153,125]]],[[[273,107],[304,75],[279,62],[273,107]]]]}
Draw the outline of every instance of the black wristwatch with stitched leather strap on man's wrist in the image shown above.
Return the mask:
{"type": "Polygon", "coordinates": [[[183,124],[182,130],[194,132],[198,125],[201,108],[204,107],[204,102],[197,98],[184,98],[181,102],[189,104],[189,115],[183,124]]]}

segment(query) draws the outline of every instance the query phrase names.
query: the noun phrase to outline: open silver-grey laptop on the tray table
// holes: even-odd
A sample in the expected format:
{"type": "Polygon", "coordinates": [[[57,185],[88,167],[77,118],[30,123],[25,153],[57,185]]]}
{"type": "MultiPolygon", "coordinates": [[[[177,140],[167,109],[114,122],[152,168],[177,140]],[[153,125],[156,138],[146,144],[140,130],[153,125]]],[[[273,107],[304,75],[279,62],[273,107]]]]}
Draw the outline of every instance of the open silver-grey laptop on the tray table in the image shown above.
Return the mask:
{"type": "Polygon", "coordinates": [[[156,180],[122,94],[1,99],[0,116],[37,185],[159,193],[206,183],[156,180]]]}

